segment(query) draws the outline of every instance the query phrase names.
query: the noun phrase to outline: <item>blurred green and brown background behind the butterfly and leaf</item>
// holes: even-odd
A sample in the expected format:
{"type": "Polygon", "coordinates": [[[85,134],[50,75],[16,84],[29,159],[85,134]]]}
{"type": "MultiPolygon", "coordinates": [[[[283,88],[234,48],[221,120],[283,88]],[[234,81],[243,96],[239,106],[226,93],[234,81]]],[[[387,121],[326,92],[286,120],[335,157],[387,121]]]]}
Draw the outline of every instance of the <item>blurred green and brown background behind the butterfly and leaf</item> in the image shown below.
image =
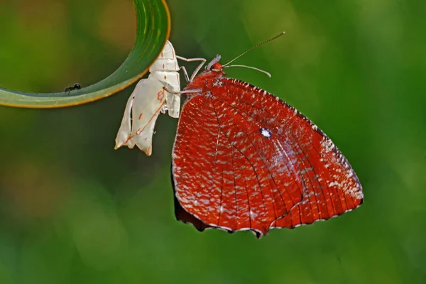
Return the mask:
{"type": "MultiPolygon", "coordinates": [[[[153,155],[114,138],[133,87],[66,109],[0,107],[0,283],[426,283],[424,1],[173,0],[171,42],[320,126],[364,185],[342,217],[261,239],[175,221],[162,115],[153,155]]],[[[133,45],[131,1],[0,0],[0,86],[87,86],[133,45]]],[[[194,65],[187,65],[189,68],[194,65]]]]}

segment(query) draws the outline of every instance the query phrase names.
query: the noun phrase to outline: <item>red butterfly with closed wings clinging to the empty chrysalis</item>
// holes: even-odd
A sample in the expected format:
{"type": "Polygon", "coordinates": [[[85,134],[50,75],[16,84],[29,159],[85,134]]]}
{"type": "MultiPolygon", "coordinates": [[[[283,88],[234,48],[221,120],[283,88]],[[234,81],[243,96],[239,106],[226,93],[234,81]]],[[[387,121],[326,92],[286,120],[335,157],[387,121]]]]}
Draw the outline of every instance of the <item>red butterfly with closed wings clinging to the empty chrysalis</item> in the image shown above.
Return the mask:
{"type": "Polygon", "coordinates": [[[176,218],[200,231],[260,238],[359,207],[361,184],[334,143],[278,97],[226,78],[219,60],[181,92],[187,101],[173,146],[176,218]]]}

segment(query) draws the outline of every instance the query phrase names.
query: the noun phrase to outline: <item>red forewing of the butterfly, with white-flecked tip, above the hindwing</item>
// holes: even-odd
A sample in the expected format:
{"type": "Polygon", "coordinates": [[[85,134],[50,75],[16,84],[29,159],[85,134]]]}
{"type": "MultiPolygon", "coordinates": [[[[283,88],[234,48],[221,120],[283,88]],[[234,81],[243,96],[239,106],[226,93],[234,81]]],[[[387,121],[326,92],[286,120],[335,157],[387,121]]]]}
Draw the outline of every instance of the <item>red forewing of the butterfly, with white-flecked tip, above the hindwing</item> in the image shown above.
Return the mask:
{"type": "MultiPolygon", "coordinates": [[[[310,224],[361,204],[363,193],[354,170],[315,124],[268,92],[239,80],[222,79],[221,82],[222,86],[218,87],[219,92],[215,97],[239,109],[262,129],[267,129],[271,133],[270,139],[276,137],[275,143],[279,147],[273,154],[275,157],[285,155],[295,158],[289,164],[293,164],[293,178],[297,179],[297,186],[302,189],[303,200],[290,214],[284,215],[292,220],[291,224],[284,224],[286,219],[280,218],[273,226],[310,224]]],[[[274,167],[272,172],[276,173],[278,169],[274,167]]],[[[297,195],[293,197],[297,198],[297,195]]]]}

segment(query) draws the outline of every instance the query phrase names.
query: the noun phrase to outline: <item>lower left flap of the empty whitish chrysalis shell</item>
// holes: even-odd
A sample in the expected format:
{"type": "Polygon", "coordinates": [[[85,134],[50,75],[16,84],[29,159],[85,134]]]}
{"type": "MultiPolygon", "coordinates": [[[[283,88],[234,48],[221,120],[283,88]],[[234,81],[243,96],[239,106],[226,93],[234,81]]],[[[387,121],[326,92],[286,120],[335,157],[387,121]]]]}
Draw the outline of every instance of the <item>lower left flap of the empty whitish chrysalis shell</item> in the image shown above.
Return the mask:
{"type": "Polygon", "coordinates": [[[146,155],[151,155],[155,121],[164,103],[165,91],[161,82],[152,77],[139,81],[126,104],[116,136],[116,148],[136,145],[146,155]]]}

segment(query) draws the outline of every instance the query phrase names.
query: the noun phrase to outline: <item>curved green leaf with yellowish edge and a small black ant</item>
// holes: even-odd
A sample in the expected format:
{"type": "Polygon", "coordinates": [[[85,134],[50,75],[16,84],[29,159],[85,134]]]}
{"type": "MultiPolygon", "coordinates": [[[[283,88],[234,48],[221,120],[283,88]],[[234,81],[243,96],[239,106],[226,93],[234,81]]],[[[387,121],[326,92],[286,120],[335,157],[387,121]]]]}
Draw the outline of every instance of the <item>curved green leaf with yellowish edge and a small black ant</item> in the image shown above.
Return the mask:
{"type": "Polygon", "coordinates": [[[71,94],[36,94],[0,88],[0,105],[38,109],[72,107],[108,97],[140,79],[168,40],[170,13],[165,0],[133,0],[133,4],[137,19],[135,45],[123,64],[109,77],[71,94]]]}

